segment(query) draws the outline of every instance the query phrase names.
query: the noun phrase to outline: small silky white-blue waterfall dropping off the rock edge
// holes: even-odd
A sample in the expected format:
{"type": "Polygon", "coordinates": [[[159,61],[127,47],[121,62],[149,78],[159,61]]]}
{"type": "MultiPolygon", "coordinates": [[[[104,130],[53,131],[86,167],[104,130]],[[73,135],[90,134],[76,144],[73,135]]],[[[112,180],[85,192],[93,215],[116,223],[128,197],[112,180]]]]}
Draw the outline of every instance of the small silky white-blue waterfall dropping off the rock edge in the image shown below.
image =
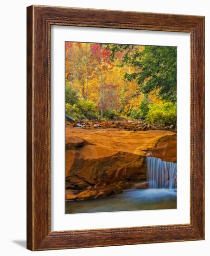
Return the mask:
{"type": "Polygon", "coordinates": [[[146,158],[147,181],[150,189],[175,189],[177,187],[177,164],[156,157],[146,158]]]}

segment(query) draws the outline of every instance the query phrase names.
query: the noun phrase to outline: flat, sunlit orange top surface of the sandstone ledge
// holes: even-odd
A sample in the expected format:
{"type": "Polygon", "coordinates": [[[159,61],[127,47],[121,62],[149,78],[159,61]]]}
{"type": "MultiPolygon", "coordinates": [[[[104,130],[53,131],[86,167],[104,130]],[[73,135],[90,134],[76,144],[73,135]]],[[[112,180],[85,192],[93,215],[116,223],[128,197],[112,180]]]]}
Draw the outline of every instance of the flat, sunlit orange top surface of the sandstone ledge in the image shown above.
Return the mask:
{"type": "Polygon", "coordinates": [[[109,150],[145,155],[148,149],[156,146],[157,141],[170,135],[175,135],[175,133],[165,130],[133,132],[116,128],[66,128],[66,143],[68,143],[68,138],[76,136],[86,143],[109,150]]]}

